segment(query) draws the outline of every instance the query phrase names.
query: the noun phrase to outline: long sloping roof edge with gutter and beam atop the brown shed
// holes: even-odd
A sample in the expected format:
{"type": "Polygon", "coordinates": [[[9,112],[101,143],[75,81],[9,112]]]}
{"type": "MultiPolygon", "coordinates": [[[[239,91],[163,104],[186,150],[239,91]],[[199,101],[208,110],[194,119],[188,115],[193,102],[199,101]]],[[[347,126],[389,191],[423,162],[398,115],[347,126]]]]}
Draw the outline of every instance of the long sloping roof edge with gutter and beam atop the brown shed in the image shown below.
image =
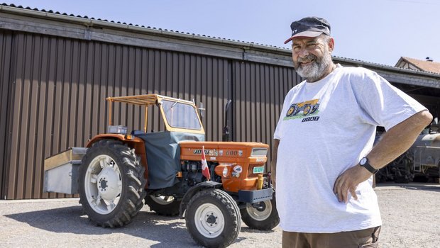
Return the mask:
{"type": "MultiPolygon", "coordinates": [[[[107,21],[52,10],[31,9],[30,7],[15,6],[13,4],[0,4],[0,12],[8,13],[7,16],[0,16],[0,22],[4,22],[0,27],[9,30],[120,43],[160,50],[175,50],[292,67],[291,50],[284,47],[150,26],[138,26],[131,23],[107,21]]],[[[332,56],[332,58],[334,62],[343,65],[373,69],[385,79],[395,83],[440,89],[440,73],[408,69],[406,67],[392,67],[345,57],[332,56]]]]}

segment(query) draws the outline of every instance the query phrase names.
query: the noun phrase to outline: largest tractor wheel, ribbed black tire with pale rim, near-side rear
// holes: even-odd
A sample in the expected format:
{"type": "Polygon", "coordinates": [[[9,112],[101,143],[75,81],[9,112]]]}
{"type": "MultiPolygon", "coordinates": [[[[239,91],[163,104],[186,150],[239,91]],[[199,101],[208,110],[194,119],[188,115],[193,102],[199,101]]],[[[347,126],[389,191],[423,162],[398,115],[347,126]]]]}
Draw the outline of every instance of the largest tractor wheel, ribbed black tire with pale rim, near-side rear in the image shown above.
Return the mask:
{"type": "Polygon", "coordinates": [[[116,140],[101,140],[87,150],[79,167],[79,203],[89,220],[122,227],[143,207],[145,179],[139,158],[116,140]]]}

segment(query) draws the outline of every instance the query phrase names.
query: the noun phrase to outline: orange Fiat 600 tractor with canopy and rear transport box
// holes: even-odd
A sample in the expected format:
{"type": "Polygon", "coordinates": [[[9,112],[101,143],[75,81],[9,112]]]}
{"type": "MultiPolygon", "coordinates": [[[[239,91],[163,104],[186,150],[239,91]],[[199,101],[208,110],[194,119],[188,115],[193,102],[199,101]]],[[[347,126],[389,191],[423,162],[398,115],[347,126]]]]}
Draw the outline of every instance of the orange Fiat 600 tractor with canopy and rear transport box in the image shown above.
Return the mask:
{"type": "Polygon", "coordinates": [[[205,142],[191,101],[158,94],[106,100],[108,133],[93,137],[86,148],[45,159],[46,192],[79,193],[89,219],[103,227],[128,224],[144,202],[161,215],[185,215],[190,235],[206,247],[229,246],[241,220],[258,230],[278,224],[275,193],[264,167],[268,145],[205,142]],[[128,133],[126,127],[112,125],[114,103],[142,106],[144,129],[128,133]],[[163,132],[147,133],[153,106],[159,108],[163,132]]]}

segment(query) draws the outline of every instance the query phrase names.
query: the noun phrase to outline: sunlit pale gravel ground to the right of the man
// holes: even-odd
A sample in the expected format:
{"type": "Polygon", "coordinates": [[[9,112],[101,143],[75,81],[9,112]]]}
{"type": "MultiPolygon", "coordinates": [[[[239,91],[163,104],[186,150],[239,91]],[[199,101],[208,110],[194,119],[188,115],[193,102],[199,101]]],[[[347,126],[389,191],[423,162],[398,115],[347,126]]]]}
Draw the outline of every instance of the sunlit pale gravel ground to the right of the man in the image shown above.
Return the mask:
{"type": "Polygon", "coordinates": [[[380,247],[440,247],[439,184],[376,190],[382,215],[380,247]]]}

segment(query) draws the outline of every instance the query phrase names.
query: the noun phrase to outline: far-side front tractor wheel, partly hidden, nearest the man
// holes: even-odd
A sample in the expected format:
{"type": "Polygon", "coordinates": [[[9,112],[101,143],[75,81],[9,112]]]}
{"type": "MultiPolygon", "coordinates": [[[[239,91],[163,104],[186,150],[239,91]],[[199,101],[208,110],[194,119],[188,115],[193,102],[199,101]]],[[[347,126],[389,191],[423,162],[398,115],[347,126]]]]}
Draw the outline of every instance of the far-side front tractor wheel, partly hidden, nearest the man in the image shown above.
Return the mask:
{"type": "Polygon", "coordinates": [[[252,229],[272,230],[280,223],[275,205],[275,193],[272,200],[246,203],[246,208],[241,208],[240,212],[241,220],[252,229]]]}

